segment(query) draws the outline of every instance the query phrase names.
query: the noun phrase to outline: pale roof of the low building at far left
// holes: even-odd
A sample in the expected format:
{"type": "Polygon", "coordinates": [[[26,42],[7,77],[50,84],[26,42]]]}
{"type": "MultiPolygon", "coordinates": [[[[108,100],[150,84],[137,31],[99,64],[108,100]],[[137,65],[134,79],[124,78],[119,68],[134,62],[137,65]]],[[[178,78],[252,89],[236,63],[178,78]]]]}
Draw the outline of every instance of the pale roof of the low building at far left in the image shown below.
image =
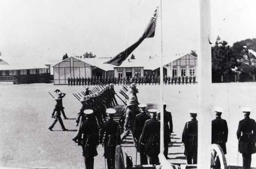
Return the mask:
{"type": "Polygon", "coordinates": [[[49,68],[43,57],[37,56],[0,56],[0,70],[22,70],[49,68]]]}

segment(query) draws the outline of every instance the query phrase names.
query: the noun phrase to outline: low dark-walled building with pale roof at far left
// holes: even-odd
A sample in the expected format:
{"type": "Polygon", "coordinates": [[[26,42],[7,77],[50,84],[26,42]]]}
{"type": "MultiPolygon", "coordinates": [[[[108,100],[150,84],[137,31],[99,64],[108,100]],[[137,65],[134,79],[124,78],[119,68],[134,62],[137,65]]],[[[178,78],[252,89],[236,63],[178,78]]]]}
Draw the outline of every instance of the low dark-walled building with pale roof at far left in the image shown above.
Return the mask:
{"type": "Polygon", "coordinates": [[[50,64],[41,57],[0,56],[0,81],[47,83],[51,80],[50,64]]]}

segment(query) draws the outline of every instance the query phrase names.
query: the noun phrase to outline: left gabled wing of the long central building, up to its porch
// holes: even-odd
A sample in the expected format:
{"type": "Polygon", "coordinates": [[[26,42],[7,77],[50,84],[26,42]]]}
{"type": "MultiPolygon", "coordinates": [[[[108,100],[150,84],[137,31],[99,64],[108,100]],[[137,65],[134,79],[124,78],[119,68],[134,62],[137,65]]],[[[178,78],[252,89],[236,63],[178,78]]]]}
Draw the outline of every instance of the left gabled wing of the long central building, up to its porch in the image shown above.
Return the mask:
{"type": "Polygon", "coordinates": [[[108,59],[68,57],[53,66],[54,84],[68,84],[68,77],[114,76],[113,65],[104,64],[108,59]]]}

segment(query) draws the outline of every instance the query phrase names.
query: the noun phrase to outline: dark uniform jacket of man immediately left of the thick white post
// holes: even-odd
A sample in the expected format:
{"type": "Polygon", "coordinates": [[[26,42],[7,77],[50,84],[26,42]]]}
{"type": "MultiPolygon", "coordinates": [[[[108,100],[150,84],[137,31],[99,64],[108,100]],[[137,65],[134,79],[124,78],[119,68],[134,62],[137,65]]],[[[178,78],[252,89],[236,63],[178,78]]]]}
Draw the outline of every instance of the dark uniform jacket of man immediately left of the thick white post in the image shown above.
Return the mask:
{"type": "Polygon", "coordinates": [[[185,124],[182,132],[182,143],[185,144],[185,154],[193,156],[197,154],[197,119],[192,119],[185,124]]]}

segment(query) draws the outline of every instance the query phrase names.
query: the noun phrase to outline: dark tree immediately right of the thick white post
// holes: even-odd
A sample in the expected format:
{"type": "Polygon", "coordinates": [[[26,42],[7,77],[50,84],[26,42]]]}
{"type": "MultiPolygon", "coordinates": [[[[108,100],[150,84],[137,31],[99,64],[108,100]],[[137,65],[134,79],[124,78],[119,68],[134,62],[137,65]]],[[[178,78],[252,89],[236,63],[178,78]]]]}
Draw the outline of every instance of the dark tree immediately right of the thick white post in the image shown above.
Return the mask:
{"type": "Polygon", "coordinates": [[[215,46],[212,47],[212,81],[220,82],[223,75],[225,81],[229,82],[229,76],[234,74],[231,69],[234,69],[236,64],[236,56],[228,42],[217,37],[215,46]]]}

